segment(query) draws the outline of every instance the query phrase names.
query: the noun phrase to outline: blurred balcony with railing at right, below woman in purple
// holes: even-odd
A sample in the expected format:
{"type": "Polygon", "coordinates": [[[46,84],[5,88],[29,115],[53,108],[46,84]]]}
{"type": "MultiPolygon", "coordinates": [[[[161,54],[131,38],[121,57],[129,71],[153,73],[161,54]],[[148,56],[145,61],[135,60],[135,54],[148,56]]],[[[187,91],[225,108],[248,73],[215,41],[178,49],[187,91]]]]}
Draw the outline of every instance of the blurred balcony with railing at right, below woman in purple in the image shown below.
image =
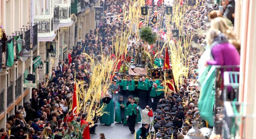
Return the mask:
{"type": "Polygon", "coordinates": [[[238,114],[242,111],[242,103],[238,102],[239,65],[216,66],[215,89],[215,132],[230,136],[227,131],[232,129],[231,119],[237,120],[242,116],[238,114]]]}

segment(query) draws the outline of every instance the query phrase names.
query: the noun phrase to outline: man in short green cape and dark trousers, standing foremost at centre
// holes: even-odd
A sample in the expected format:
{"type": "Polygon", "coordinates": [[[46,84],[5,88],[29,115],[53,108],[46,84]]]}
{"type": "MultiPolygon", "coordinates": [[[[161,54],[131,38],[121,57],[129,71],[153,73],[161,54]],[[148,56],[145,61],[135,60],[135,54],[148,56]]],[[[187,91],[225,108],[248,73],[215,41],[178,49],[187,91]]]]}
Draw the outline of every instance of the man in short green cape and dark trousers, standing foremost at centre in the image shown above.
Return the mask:
{"type": "Polygon", "coordinates": [[[132,134],[135,133],[135,120],[136,120],[136,116],[137,116],[137,104],[134,103],[134,99],[131,99],[131,104],[128,105],[127,107],[127,111],[126,111],[126,120],[129,126],[129,130],[132,134]]]}

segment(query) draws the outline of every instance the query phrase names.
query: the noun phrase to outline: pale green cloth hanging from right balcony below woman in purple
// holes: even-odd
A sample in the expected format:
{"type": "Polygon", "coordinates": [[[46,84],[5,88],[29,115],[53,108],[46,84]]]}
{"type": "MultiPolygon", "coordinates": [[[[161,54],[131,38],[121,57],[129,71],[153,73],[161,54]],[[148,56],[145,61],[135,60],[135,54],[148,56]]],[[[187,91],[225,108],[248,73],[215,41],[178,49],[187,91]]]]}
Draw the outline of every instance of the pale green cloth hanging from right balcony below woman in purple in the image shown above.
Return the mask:
{"type": "Polygon", "coordinates": [[[213,105],[214,105],[214,97],[215,97],[215,76],[216,76],[216,67],[215,66],[208,66],[204,72],[208,74],[205,74],[205,80],[202,83],[201,87],[201,93],[198,100],[198,108],[199,113],[201,115],[201,118],[204,120],[207,120],[209,122],[209,125],[214,125],[213,120],[213,105]],[[209,70],[210,68],[210,70],[209,70]]]}

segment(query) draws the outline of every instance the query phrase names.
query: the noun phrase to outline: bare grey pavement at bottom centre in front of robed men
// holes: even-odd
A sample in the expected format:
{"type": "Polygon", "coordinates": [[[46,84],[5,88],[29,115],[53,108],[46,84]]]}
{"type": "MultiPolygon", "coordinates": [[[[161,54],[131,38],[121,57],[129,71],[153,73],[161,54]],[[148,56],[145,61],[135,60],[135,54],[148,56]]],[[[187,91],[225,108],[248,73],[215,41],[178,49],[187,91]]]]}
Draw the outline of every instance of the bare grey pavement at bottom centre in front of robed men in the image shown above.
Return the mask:
{"type": "MultiPolygon", "coordinates": [[[[135,131],[137,132],[138,127],[141,127],[141,122],[135,124],[135,131]]],[[[100,139],[100,133],[104,133],[106,139],[134,139],[135,134],[131,134],[128,126],[123,124],[114,123],[110,126],[99,124],[96,127],[96,135],[90,135],[91,139],[100,139]]]]}

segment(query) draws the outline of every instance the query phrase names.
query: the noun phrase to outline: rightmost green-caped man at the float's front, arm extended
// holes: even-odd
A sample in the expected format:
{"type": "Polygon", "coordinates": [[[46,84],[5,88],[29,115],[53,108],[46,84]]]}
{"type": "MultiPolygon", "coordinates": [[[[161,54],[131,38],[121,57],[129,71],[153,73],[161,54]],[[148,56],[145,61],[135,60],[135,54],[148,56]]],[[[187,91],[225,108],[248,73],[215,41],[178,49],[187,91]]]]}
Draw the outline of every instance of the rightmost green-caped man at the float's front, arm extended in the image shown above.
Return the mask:
{"type": "Polygon", "coordinates": [[[152,90],[150,92],[151,101],[153,103],[153,111],[156,111],[157,103],[160,99],[164,98],[164,91],[162,91],[164,87],[153,83],[152,90]]]}

